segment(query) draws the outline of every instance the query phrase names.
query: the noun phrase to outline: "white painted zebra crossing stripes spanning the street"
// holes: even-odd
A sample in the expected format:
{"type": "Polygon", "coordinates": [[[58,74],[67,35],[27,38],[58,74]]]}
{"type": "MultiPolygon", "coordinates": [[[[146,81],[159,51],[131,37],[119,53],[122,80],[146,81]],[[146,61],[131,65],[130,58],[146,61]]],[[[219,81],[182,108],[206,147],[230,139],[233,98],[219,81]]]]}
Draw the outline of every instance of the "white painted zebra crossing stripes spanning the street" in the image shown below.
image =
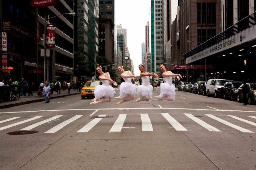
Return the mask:
{"type": "MultiPolygon", "coordinates": [[[[130,114],[128,114],[130,115],[130,114]]],[[[173,128],[175,128],[175,130],[177,131],[187,131],[187,129],[181,125],[177,120],[175,120],[175,118],[173,118],[169,113],[161,113],[161,115],[173,126],[173,128]]],[[[199,124],[200,126],[203,126],[204,128],[206,128],[207,130],[211,131],[211,132],[221,132],[219,129],[211,126],[210,124],[207,124],[206,122],[204,122],[203,120],[193,116],[192,114],[187,114],[187,113],[184,113],[185,116],[187,116],[188,118],[190,118],[191,120],[193,120],[194,122],[196,122],[197,124],[199,124]]],[[[246,132],[246,133],[254,133],[250,130],[247,130],[245,128],[242,128],[240,126],[237,126],[235,124],[232,124],[230,122],[227,122],[226,120],[223,120],[221,118],[218,118],[217,116],[213,116],[212,114],[205,114],[208,118],[212,118],[218,122],[221,122],[227,126],[230,126],[231,128],[234,128],[236,130],[239,130],[241,132],[246,132]]],[[[45,124],[47,122],[51,122],[53,120],[56,120],[60,117],[62,117],[63,115],[57,115],[57,116],[53,116],[52,118],[48,118],[46,120],[43,120],[43,121],[40,121],[40,122],[37,122],[35,124],[32,124],[30,126],[27,126],[25,128],[22,128],[20,130],[31,130],[37,126],[40,126],[42,124],[45,124]]],[[[77,120],[78,118],[80,118],[81,116],[83,115],[75,115],[73,116],[72,118],[68,119],[68,120],[65,120],[64,122],[58,124],[57,126],[54,126],[53,128],[51,128],[50,130],[44,132],[45,134],[47,133],[55,133],[59,130],[61,130],[62,128],[64,128],[65,126],[67,126],[68,124],[70,124],[71,122],[77,120]]],[[[126,128],[126,127],[123,127],[124,125],[124,122],[126,120],[126,116],[127,114],[119,114],[118,118],[116,119],[116,121],[114,122],[112,128],[110,129],[109,132],[121,132],[123,128],[126,128]]],[[[248,123],[250,125],[253,125],[253,126],[256,126],[256,123],[255,122],[252,122],[252,121],[249,121],[249,120],[246,120],[244,118],[240,118],[238,116],[233,116],[233,115],[228,115],[229,117],[233,118],[233,119],[236,119],[236,120],[239,120],[241,122],[245,122],[245,123],[248,123]]],[[[26,123],[26,122],[29,122],[29,121],[32,121],[32,120],[36,120],[38,118],[41,118],[43,116],[35,116],[33,118],[29,118],[27,120],[23,120],[23,121],[20,121],[20,122],[16,122],[14,124],[10,124],[10,125],[7,125],[7,126],[4,126],[4,127],[1,127],[0,130],[4,130],[4,129],[7,129],[7,128],[11,128],[13,126],[17,126],[17,125],[20,125],[20,124],[23,124],[23,123],[26,123]]],[[[87,123],[85,126],[83,126],[83,128],[81,128],[80,130],[78,130],[77,132],[89,132],[93,127],[95,127],[104,117],[106,117],[106,114],[101,114],[98,116],[98,118],[94,118],[92,119],[89,123],[87,123]]],[[[256,119],[256,116],[248,116],[250,118],[255,118],[256,119]]],[[[8,122],[8,121],[11,121],[11,120],[15,120],[17,118],[21,118],[21,117],[13,117],[13,118],[9,118],[9,119],[6,119],[6,120],[1,120],[0,123],[3,123],[3,122],[8,122]]],[[[140,118],[141,118],[141,123],[142,123],[142,131],[153,131],[153,127],[152,127],[152,123],[150,121],[150,118],[148,116],[148,114],[140,114],[140,118]]]]}

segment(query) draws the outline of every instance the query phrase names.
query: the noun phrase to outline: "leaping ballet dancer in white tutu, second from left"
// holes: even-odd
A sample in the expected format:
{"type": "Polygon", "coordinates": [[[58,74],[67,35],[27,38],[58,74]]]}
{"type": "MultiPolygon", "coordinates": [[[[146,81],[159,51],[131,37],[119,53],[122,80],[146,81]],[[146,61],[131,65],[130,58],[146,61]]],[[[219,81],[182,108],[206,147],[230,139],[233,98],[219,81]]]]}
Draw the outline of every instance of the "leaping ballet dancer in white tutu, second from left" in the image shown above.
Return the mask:
{"type": "Polygon", "coordinates": [[[133,81],[136,81],[137,77],[133,75],[130,70],[124,71],[124,68],[122,66],[118,66],[117,70],[119,72],[122,72],[120,76],[125,81],[120,84],[120,96],[115,97],[115,99],[119,100],[119,102],[116,104],[121,104],[123,102],[133,100],[135,97],[135,94],[137,94],[136,92],[137,86],[135,84],[132,84],[132,81],[131,81],[131,78],[133,79],[133,81]]]}

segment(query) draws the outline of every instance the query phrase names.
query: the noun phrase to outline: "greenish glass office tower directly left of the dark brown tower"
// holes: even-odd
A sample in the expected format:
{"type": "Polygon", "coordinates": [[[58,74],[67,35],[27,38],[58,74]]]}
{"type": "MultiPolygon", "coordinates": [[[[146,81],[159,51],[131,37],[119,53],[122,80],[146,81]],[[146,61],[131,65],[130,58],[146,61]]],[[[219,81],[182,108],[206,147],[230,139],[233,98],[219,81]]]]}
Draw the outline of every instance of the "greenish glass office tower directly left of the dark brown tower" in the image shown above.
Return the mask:
{"type": "Polygon", "coordinates": [[[99,52],[98,0],[74,0],[75,12],[75,51],[83,55],[87,76],[95,70],[95,54],[99,52]]]}

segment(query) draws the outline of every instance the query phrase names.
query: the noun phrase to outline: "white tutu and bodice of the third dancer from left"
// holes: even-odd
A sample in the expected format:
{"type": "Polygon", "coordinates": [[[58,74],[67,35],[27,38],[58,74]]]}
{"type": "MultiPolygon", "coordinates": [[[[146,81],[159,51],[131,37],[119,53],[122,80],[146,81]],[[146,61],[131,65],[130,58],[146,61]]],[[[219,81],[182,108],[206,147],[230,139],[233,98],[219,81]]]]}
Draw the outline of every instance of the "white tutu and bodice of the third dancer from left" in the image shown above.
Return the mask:
{"type": "Polygon", "coordinates": [[[138,86],[138,96],[140,98],[151,98],[152,97],[152,91],[153,91],[153,86],[149,84],[149,77],[144,76],[141,78],[142,80],[142,85],[138,86]]]}

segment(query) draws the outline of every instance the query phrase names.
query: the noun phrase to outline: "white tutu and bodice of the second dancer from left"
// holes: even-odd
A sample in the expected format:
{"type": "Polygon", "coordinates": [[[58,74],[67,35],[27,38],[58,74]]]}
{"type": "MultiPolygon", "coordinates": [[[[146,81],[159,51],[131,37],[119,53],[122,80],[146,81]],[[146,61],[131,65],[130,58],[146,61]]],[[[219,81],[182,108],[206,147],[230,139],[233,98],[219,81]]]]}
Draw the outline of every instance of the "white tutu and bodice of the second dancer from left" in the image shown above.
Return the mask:
{"type": "Polygon", "coordinates": [[[132,84],[131,78],[124,78],[125,82],[120,84],[120,97],[126,97],[128,94],[135,97],[137,86],[132,84]]]}

